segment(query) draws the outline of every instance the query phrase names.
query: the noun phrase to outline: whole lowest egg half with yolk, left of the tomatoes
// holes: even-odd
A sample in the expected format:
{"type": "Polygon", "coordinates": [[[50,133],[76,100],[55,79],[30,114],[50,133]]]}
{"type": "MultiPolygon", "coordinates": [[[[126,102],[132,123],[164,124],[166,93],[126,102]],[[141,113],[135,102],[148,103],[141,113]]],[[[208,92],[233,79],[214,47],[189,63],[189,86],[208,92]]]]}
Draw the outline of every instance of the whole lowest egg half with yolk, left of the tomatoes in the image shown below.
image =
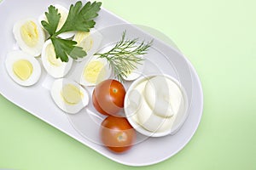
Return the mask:
{"type": "Polygon", "coordinates": [[[53,82],[50,94],[55,104],[70,114],[78,113],[89,103],[87,91],[77,82],[65,78],[53,82]]]}

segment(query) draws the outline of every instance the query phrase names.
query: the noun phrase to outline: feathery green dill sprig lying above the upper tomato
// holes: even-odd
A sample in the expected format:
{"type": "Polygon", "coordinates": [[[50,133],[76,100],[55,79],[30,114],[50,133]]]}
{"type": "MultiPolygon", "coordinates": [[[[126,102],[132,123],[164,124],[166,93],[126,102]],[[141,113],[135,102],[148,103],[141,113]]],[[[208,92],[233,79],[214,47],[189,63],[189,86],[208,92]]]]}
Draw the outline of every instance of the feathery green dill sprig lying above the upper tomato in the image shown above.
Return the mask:
{"type": "Polygon", "coordinates": [[[105,58],[108,64],[113,68],[115,77],[124,82],[127,73],[135,70],[137,65],[141,65],[142,54],[147,54],[148,48],[152,42],[141,42],[138,44],[138,38],[125,40],[126,31],[123,32],[122,38],[115,46],[104,54],[98,55],[98,58],[105,58]]]}

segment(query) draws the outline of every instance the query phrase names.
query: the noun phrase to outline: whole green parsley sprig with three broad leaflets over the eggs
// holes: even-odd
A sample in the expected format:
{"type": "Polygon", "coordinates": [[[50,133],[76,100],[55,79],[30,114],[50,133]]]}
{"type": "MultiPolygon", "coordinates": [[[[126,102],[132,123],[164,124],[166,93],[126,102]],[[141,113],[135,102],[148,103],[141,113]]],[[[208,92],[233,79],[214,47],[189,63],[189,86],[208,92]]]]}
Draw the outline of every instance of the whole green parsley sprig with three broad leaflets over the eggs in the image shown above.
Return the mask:
{"type": "Polygon", "coordinates": [[[102,3],[88,2],[83,6],[81,1],[75,3],[75,5],[72,4],[69,8],[67,20],[59,31],[56,31],[56,29],[61,19],[61,14],[58,13],[57,8],[52,5],[49,6],[48,12],[45,13],[48,21],[43,20],[41,23],[49,33],[49,39],[55,47],[57,59],[61,58],[61,61],[67,62],[67,55],[73,59],[83,58],[86,55],[83,48],[75,46],[77,42],[61,39],[58,35],[67,31],[90,31],[90,28],[93,28],[96,24],[94,19],[98,15],[101,5],[102,3]]]}

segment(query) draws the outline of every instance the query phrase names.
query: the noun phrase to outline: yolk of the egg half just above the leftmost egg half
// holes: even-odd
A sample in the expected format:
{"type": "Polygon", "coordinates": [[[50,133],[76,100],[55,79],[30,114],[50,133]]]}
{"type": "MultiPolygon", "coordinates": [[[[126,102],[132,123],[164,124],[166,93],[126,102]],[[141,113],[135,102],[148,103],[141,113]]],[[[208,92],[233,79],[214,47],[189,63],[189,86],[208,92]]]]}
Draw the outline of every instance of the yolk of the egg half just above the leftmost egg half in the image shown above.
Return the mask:
{"type": "Polygon", "coordinates": [[[27,21],[23,26],[21,26],[20,35],[27,46],[31,48],[35,47],[39,39],[38,26],[32,21],[27,21]]]}

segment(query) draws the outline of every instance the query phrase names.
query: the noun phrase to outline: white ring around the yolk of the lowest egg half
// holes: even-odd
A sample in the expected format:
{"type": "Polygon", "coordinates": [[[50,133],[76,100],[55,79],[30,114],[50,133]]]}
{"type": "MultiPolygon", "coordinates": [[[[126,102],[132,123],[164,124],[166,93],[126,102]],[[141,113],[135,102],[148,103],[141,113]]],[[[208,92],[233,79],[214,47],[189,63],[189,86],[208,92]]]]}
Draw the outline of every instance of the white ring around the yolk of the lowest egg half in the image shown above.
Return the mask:
{"type": "Polygon", "coordinates": [[[62,110],[70,114],[76,114],[81,111],[86,105],[89,103],[89,95],[87,91],[82,88],[77,82],[73,82],[68,80],[67,78],[61,78],[55,80],[52,84],[52,88],[50,90],[50,94],[55,104],[62,110]],[[76,88],[79,88],[79,91],[83,94],[83,98],[76,105],[69,105],[61,96],[62,88],[67,85],[72,84],[76,88]]]}

